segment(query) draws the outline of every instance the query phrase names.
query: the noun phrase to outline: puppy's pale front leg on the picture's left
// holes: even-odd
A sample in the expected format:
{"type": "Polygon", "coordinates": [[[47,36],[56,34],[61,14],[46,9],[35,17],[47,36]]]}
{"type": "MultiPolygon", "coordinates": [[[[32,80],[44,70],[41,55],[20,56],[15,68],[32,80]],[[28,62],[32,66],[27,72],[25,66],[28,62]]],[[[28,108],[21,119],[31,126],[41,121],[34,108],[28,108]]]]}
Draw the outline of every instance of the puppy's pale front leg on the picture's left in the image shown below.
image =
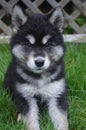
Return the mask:
{"type": "Polygon", "coordinates": [[[29,101],[29,111],[23,116],[27,130],[40,130],[38,121],[38,106],[35,99],[29,101]]]}

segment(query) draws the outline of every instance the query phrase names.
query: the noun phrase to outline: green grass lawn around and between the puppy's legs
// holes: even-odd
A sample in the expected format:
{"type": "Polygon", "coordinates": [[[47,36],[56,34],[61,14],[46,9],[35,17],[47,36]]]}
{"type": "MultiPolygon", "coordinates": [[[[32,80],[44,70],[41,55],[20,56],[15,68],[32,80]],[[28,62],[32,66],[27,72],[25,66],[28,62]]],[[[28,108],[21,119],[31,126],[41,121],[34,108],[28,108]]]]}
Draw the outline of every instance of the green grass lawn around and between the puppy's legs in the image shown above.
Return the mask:
{"type": "MultiPolygon", "coordinates": [[[[65,71],[68,83],[68,120],[70,130],[86,130],[86,44],[66,44],[65,71]]],[[[0,45],[0,130],[24,130],[16,123],[16,110],[9,95],[3,90],[4,73],[11,55],[8,45],[0,45]]],[[[41,130],[52,130],[46,111],[40,115],[41,130]]]]}

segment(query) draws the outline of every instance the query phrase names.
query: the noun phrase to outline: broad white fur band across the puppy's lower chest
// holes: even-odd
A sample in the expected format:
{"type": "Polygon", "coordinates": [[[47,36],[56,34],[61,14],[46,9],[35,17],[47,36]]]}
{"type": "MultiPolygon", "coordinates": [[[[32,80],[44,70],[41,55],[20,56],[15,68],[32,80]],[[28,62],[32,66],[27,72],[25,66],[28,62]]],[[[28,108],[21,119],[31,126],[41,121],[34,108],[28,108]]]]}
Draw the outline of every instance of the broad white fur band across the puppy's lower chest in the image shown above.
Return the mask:
{"type": "Polygon", "coordinates": [[[34,95],[42,95],[44,98],[59,97],[59,95],[65,89],[65,80],[61,79],[52,83],[48,83],[45,86],[38,88],[37,86],[25,84],[16,84],[17,91],[19,91],[24,97],[33,97],[34,95]]]}

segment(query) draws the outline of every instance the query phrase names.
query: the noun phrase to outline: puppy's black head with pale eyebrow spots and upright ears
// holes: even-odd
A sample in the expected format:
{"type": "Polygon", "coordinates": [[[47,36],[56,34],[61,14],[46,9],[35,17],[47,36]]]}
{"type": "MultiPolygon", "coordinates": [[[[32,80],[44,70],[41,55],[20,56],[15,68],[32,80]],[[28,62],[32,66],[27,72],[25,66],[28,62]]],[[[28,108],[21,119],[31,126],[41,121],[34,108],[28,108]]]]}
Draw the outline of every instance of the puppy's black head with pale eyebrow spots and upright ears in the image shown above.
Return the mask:
{"type": "Polygon", "coordinates": [[[12,25],[12,55],[28,70],[42,73],[63,57],[63,15],[59,7],[45,15],[26,15],[15,6],[12,25]]]}

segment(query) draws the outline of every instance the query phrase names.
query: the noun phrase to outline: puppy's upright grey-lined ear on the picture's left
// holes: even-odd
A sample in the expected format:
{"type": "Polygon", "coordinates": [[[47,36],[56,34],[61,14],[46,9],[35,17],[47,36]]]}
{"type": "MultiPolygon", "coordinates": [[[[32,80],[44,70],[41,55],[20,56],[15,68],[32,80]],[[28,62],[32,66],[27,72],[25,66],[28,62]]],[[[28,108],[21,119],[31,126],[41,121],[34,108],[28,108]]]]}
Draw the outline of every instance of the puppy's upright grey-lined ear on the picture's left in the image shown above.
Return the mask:
{"type": "Polygon", "coordinates": [[[13,31],[17,31],[27,21],[27,15],[22,11],[20,6],[16,5],[12,13],[13,31]]]}

